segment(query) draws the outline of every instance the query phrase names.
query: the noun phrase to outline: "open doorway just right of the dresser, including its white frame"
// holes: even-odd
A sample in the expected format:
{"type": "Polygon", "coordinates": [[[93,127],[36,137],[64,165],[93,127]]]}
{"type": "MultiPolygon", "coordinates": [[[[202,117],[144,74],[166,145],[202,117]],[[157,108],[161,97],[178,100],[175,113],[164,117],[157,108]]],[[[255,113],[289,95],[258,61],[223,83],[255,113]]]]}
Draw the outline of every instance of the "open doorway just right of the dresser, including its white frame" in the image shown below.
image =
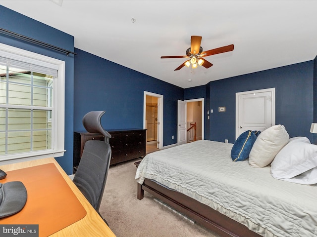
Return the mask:
{"type": "Polygon", "coordinates": [[[163,96],[144,91],[143,128],[146,131],[146,154],[162,149],[163,96]]]}

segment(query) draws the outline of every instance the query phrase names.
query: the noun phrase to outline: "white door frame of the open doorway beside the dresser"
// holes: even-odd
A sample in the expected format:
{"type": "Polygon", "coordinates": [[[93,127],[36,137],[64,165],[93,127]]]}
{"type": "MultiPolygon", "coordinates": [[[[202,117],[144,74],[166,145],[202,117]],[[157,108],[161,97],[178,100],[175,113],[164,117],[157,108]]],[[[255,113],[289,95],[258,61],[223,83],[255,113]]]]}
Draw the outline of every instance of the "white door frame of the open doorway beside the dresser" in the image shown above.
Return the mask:
{"type": "Polygon", "coordinates": [[[158,98],[158,148],[163,149],[163,95],[144,91],[143,93],[143,129],[146,129],[146,109],[147,109],[147,95],[158,98]]]}

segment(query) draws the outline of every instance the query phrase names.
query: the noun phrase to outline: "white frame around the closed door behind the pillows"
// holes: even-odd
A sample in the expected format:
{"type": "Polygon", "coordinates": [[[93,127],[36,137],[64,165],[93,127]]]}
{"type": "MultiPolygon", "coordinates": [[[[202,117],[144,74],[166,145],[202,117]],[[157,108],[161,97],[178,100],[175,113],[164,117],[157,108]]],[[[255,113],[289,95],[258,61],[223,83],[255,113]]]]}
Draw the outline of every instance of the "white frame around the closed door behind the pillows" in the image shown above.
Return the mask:
{"type": "Polygon", "coordinates": [[[250,90],[243,92],[236,92],[236,139],[239,137],[239,96],[252,94],[252,93],[262,93],[262,92],[271,92],[271,126],[275,125],[275,87],[260,89],[260,90],[250,90]]]}

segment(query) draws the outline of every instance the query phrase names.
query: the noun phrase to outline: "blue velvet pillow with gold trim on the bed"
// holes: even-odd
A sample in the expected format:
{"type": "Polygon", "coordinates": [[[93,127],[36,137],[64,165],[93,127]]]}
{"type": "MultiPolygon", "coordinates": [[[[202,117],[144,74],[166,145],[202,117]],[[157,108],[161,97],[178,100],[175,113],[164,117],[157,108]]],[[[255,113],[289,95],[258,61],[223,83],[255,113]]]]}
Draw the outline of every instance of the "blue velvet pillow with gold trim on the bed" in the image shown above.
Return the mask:
{"type": "MultiPolygon", "coordinates": [[[[261,133],[261,131],[256,132],[261,133]]],[[[249,158],[249,154],[256,139],[257,135],[252,130],[248,130],[241,133],[238,139],[234,142],[233,147],[231,149],[232,161],[242,161],[246,158],[249,158]]]]}

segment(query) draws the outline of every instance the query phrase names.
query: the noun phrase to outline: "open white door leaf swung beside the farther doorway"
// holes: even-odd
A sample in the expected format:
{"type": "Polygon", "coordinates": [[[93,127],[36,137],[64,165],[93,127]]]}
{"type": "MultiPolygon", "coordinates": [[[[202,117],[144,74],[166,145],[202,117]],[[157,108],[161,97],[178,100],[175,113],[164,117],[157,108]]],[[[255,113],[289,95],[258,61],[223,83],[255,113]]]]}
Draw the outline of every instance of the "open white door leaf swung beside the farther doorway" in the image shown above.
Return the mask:
{"type": "Polygon", "coordinates": [[[182,100],[177,101],[177,145],[186,143],[186,102],[182,100]]]}

